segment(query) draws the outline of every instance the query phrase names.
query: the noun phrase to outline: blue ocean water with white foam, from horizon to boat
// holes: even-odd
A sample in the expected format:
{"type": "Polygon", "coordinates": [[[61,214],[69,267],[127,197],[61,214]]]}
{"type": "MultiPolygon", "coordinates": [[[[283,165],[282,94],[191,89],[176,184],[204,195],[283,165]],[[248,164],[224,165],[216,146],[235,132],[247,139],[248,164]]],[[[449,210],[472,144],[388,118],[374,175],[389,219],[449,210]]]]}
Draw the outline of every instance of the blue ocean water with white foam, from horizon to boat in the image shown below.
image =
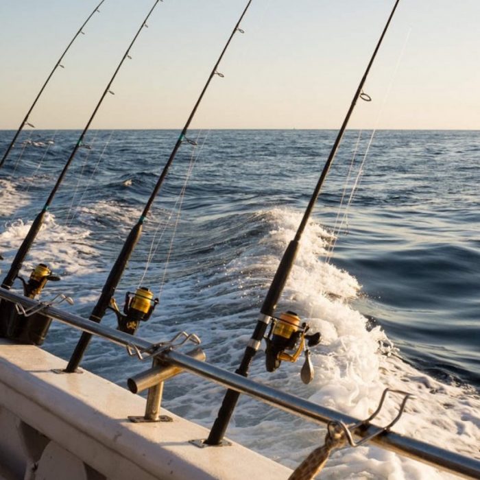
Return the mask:
{"type": "MultiPolygon", "coordinates": [[[[251,376],[357,418],[385,387],[407,390],[416,400],[395,431],[479,458],[480,132],[372,133],[347,132],[278,305],[322,333],[315,379],[301,383],[301,362],[268,374],[263,352],[251,376]]],[[[12,134],[0,132],[0,153],[12,134]]],[[[0,170],[2,275],[78,134],[24,132],[0,170]]],[[[75,304],[65,308],[89,315],[178,134],[88,134],[22,270],[42,261],[60,274],[44,297],[67,293],[75,304]]],[[[182,145],[116,293],[120,305],[139,285],[160,298],[141,337],[196,333],[208,361],[235,370],[335,135],[189,134],[197,147],[182,145]]],[[[114,315],[104,323],[115,326],[114,315]]],[[[67,359],[78,337],[53,324],[45,348],[67,359]]],[[[82,365],[119,385],[145,368],[97,339],[82,365]]],[[[210,427],[223,394],[182,374],[163,405],[210,427]]],[[[228,436],[293,468],[324,429],[241,398],[228,436]]],[[[453,478],[372,446],[335,453],[325,477],[453,478]]]]}

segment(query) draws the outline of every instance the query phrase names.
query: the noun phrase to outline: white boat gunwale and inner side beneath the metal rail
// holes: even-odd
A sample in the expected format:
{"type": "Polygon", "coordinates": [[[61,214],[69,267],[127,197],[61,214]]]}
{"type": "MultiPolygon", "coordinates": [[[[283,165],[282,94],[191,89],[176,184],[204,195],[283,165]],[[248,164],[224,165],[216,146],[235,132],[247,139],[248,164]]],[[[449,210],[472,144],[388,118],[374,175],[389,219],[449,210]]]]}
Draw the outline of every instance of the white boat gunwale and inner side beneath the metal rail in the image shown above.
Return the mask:
{"type": "Polygon", "coordinates": [[[145,399],[99,376],[57,374],[66,362],[36,346],[0,340],[0,478],[288,478],[291,470],[233,443],[198,448],[204,427],[132,423],[145,399]],[[25,474],[27,472],[27,474],[25,474]],[[40,475],[41,474],[41,475],[40,475]]]}

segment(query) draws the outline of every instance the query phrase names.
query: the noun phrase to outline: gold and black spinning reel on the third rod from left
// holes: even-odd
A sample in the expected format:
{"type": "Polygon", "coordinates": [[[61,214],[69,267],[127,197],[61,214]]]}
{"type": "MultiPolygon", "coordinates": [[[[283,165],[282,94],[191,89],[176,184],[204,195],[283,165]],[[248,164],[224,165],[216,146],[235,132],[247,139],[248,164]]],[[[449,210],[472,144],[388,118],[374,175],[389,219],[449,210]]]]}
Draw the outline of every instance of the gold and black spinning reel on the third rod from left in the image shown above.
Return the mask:
{"type": "Polygon", "coordinates": [[[134,335],[136,329],[139,328],[139,323],[146,322],[149,319],[157,304],[158,298],[154,298],[152,291],[140,287],[136,289],[135,293],[128,291],[125,294],[123,313],[120,312],[115,298],[110,300],[110,307],[108,308],[117,315],[117,330],[134,335]]]}

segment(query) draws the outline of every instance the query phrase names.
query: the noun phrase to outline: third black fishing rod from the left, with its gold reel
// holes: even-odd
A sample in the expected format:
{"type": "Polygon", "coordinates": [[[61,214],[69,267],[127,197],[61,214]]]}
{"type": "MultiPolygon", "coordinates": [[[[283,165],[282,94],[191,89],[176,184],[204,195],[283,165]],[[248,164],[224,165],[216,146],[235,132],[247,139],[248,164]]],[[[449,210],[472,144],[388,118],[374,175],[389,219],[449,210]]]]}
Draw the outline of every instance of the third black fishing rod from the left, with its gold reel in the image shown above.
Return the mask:
{"type": "MultiPolygon", "coordinates": [[[[123,271],[125,270],[127,262],[130,259],[130,255],[132,254],[136,243],[139,241],[142,228],[143,228],[143,223],[147,218],[150,207],[152,206],[158,191],[160,191],[160,187],[163,184],[163,180],[165,179],[165,176],[167,176],[169,167],[173,162],[173,159],[175,158],[178,152],[178,149],[180,149],[180,145],[182,145],[183,141],[187,141],[188,143],[195,145],[194,141],[187,139],[187,136],[186,136],[187,130],[189,129],[191,121],[193,120],[193,117],[197,112],[197,108],[198,106],[200,106],[200,102],[202,101],[205,95],[205,92],[208,86],[210,85],[213,77],[215,75],[219,75],[219,77],[224,76],[222,73],[217,71],[217,68],[221,62],[221,59],[224,58],[224,54],[228,49],[228,46],[230,45],[230,42],[232,41],[232,38],[235,36],[235,34],[237,32],[240,32],[241,34],[244,33],[243,30],[240,28],[240,23],[243,20],[243,17],[245,16],[245,14],[247,13],[247,10],[250,7],[251,3],[252,3],[252,0],[249,0],[247,5],[243,9],[243,12],[239,20],[235,24],[235,27],[233,28],[232,33],[228,37],[228,40],[224,46],[224,49],[221,51],[220,56],[217,62],[215,63],[210,75],[208,75],[208,80],[206,81],[206,84],[204,85],[204,88],[200,93],[200,97],[198,97],[195,105],[193,106],[193,109],[190,112],[190,115],[187,119],[187,123],[185,123],[182,129],[182,132],[180,133],[180,136],[178,137],[178,140],[176,141],[175,146],[171,151],[169,159],[167,160],[165,167],[163,167],[162,173],[160,173],[160,177],[158,178],[158,181],[156,182],[156,185],[152,193],[150,194],[150,197],[147,200],[145,207],[143,208],[143,212],[141,214],[141,217],[139,218],[139,221],[137,221],[134,227],[132,228],[132,230],[130,230],[130,233],[127,239],[125,240],[125,243],[123,244],[121,252],[117,258],[117,261],[115,261],[114,265],[112,266],[112,269],[110,270],[110,274],[108,275],[106,283],[103,289],[101,290],[101,295],[99,297],[99,300],[97,301],[97,304],[95,305],[89,317],[90,320],[93,320],[94,322],[97,322],[97,323],[101,322],[101,319],[105,315],[106,309],[110,308],[110,309],[113,309],[117,314],[117,317],[119,319],[119,328],[123,329],[126,326],[126,328],[123,331],[134,333],[134,331],[136,331],[136,326],[138,326],[139,324],[139,321],[146,320],[145,316],[149,317],[149,315],[151,315],[152,313],[152,309],[155,307],[156,303],[158,303],[158,300],[153,298],[153,293],[151,291],[141,287],[137,289],[136,293],[134,293],[133,296],[130,296],[130,292],[127,292],[127,295],[125,296],[125,308],[123,309],[123,312],[125,313],[125,315],[121,315],[117,307],[117,304],[113,299],[113,295],[115,293],[115,289],[117,288],[117,285],[119,284],[123,271]],[[132,318],[130,315],[133,315],[134,317],[132,318]]],[[[73,354],[71,356],[69,364],[67,365],[67,368],[65,369],[65,372],[69,372],[69,373],[75,372],[78,365],[80,365],[80,361],[82,361],[82,357],[88,346],[88,343],[91,340],[91,337],[92,335],[90,333],[82,333],[82,336],[80,337],[80,340],[78,341],[77,346],[73,351],[73,354]]]]}

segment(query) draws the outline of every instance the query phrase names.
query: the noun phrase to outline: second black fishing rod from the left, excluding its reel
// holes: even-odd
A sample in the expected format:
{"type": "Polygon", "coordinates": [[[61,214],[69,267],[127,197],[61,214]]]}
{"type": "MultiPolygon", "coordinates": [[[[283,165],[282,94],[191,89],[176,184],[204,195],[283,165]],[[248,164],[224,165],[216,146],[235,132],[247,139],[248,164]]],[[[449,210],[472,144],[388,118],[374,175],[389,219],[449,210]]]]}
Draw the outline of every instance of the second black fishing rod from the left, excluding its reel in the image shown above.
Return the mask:
{"type": "Polygon", "coordinates": [[[112,86],[112,83],[115,80],[115,77],[117,76],[117,73],[119,72],[123,62],[125,61],[125,58],[130,58],[130,54],[129,54],[130,49],[132,48],[133,44],[135,43],[136,38],[138,38],[138,36],[139,36],[140,32],[142,31],[143,27],[146,26],[146,22],[149,19],[149,16],[152,14],[152,12],[154,11],[154,8],[156,7],[156,5],[158,4],[159,1],[160,0],[156,0],[153,7],[149,10],[147,16],[145,17],[145,19],[141,23],[141,27],[139,28],[138,32],[136,32],[136,34],[135,34],[132,42],[130,43],[128,49],[125,51],[125,54],[121,58],[120,63],[118,64],[117,69],[115,70],[115,73],[113,73],[112,77],[110,78],[110,81],[108,82],[108,84],[107,84],[107,86],[104,90],[104,93],[101,95],[101,97],[100,97],[100,99],[97,103],[97,106],[95,106],[95,110],[93,110],[93,113],[92,113],[90,119],[88,120],[88,122],[85,125],[84,130],[82,131],[82,134],[80,134],[80,137],[79,137],[77,143],[75,144],[75,147],[73,148],[73,151],[71,152],[71,154],[69,156],[69,159],[67,160],[67,163],[64,165],[64,167],[62,169],[62,172],[60,173],[60,176],[58,176],[56,184],[53,187],[53,189],[51,190],[49,197],[47,198],[47,202],[45,202],[45,205],[43,206],[42,210],[40,211],[40,213],[38,213],[38,215],[34,219],[34,222],[32,223],[32,226],[30,227],[30,229],[27,233],[27,236],[23,240],[23,242],[22,242],[22,244],[19,248],[19,251],[16,252],[16,256],[14,258],[12,266],[10,267],[10,270],[9,270],[7,276],[5,276],[5,278],[3,279],[3,283],[1,285],[3,288],[10,289],[10,287],[12,287],[12,285],[14,283],[15,278],[17,278],[19,276],[19,271],[20,271],[21,266],[23,264],[23,260],[25,259],[25,256],[27,255],[29,249],[31,248],[32,244],[34,243],[34,240],[35,240],[38,232],[40,231],[40,228],[43,224],[43,219],[45,217],[45,214],[47,213],[47,211],[49,209],[49,206],[50,206],[50,204],[53,200],[53,197],[55,196],[58,189],[60,188],[60,184],[62,183],[62,180],[64,179],[64,176],[67,173],[67,170],[69,169],[69,166],[71,165],[71,163],[73,161],[73,158],[75,158],[75,155],[77,154],[78,149],[80,149],[80,147],[82,146],[82,143],[83,143],[84,137],[86,135],[86,132],[88,131],[88,128],[90,128],[90,125],[91,125],[93,119],[95,118],[95,115],[97,115],[97,112],[98,112],[98,110],[101,106],[101,103],[104,101],[104,98],[106,97],[107,93],[112,93],[112,91],[110,91],[110,87],[112,86]]]}

